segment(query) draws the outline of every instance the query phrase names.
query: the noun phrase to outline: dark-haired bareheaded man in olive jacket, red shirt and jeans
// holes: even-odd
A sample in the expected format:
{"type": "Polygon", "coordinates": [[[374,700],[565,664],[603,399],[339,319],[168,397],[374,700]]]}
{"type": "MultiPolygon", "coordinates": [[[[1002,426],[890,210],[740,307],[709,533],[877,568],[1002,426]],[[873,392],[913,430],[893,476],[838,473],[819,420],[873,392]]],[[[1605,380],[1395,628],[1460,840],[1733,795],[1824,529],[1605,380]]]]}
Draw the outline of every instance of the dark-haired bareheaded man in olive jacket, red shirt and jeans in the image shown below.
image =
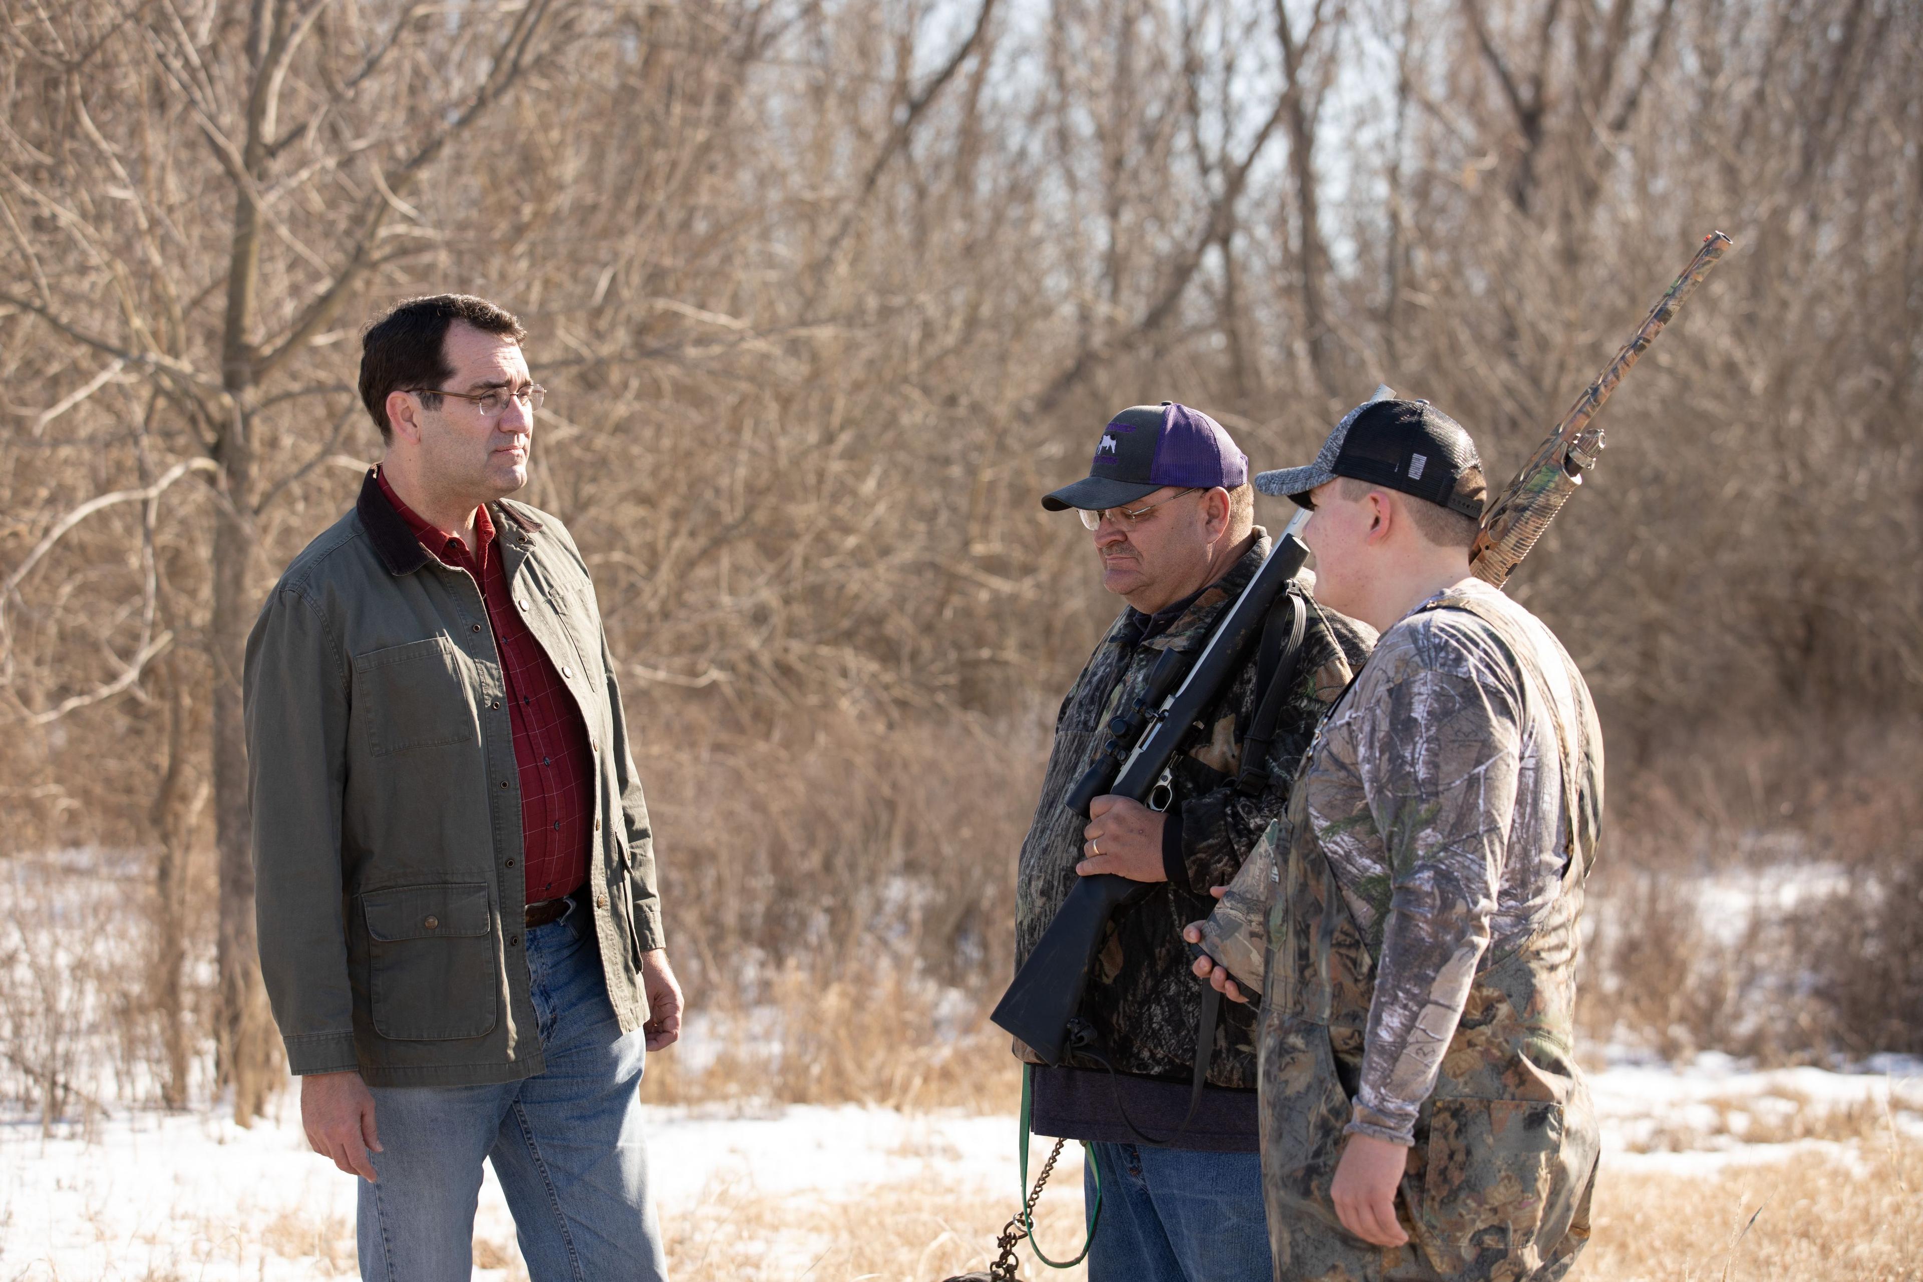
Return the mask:
{"type": "Polygon", "coordinates": [[[246,650],[262,973],[363,1278],[469,1278],[483,1159],[535,1282],[663,1278],[637,1086],[681,1028],[594,584],[527,484],[523,331],[363,338],[387,457],[246,650]]]}

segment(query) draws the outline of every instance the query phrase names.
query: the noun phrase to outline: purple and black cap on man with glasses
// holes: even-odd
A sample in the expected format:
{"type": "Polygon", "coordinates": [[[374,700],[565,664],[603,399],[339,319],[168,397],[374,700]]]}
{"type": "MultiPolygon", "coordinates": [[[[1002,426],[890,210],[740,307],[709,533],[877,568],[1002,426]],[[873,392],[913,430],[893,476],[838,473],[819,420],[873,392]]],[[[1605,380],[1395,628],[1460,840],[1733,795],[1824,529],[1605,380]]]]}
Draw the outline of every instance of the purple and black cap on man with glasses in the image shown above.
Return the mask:
{"type": "Polygon", "coordinates": [[[1102,429],[1088,475],[1044,494],[1042,507],[1121,507],[1165,484],[1233,490],[1248,484],[1248,456],[1200,409],[1171,400],[1129,406],[1102,429]]]}

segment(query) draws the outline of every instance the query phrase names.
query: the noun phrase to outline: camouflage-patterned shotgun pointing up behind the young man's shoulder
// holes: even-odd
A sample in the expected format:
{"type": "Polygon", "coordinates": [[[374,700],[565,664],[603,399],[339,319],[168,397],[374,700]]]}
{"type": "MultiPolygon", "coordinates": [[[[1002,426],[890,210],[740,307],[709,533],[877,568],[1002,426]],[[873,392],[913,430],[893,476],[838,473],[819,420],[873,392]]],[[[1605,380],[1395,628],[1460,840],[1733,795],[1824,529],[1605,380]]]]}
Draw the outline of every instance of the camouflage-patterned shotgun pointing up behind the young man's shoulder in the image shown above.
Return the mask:
{"type": "Polygon", "coordinates": [[[1663,325],[1688,302],[1702,279],[1710,275],[1733,240],[1719,231],[1702,238],[1702,248],[1690,259],[1675,284],[1650,308],[1650,315],[1629,336],[1623,350],[1615,354],[1596,381],[1575,398],[1575,406],[1556,425],[1535,456],[1515,473],[1515,481],[1496,496],[1496,502],[1483,513],[1483,529],[1469,548],[1469,569],[1483,582],[1502,586],[1521,563],[1529,550],[1542,538],[1561,505],[1569,502],[1583,473],[1596,465],[1602,454],[1602,429],[1594,419],[1610,392],[1623,381],[1629,367],[1636,363],[1644,350],[1663,333],[1663,325]]]}

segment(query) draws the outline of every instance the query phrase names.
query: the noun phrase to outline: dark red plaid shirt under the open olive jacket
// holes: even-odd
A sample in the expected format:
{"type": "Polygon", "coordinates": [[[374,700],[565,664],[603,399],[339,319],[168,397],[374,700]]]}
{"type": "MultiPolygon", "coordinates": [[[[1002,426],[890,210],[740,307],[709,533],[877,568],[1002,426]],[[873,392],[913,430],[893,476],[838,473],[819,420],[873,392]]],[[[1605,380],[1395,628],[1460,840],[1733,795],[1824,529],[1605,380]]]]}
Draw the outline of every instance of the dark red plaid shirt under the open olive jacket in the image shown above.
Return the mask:
{"type": "MultiPolygon", "coordinates": [[[[379,473],[377,473],[379,475],[379,473]]],[[[394,504],[413,536],[442,565],[473,575],[487,602],[500,675],[508,686],[513,725],[513,763],[521,775],[521,867],[527,901],[558,900],[588,878],[588,840],[594,825],[594,757],[581,705],[562,684],[554,659],[540,648],[515,607],[508,569],[494,555],[494,521],[475,509],[477,552],[460,534],[423,521],[381,479],[381,492],[394,504]],[[477,565],[479,561],[479,565],[477,565]]]]}

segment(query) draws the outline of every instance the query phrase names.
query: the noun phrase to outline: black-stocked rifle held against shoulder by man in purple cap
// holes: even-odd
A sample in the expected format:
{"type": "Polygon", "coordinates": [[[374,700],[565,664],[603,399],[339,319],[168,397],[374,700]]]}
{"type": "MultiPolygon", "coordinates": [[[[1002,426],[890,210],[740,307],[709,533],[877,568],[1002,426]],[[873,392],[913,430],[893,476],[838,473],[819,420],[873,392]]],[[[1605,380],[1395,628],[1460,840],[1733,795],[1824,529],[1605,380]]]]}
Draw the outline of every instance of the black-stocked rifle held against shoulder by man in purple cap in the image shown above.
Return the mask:
{"type": "MultiPolygon", "coordinates": [[[[1173,800],[1169,763],[1235,677],[1248,646],[1261,634],[1269,609],[1310,555],[1300,538],[1308,517],[1308,511],[1298,513],[1275,540],[1269,557],[1223,613],[1186,675],[1183,655],[1163,652],[1156,659],[1142,698],[1127,717],[1110,723],[1108,748],[1063,805],[1086,815],[1088,803],[1108,794],[1142,801],[1148,809],[1167,809],[1173,800]]],[[[1133,882],[1113,873],[1077,880],[988,1019],[1046,1063],[1060,1065],[1075,1049],[1069,1024],[1081,1007],[1088,967],[1102,948],[1108,919],[1140,901],[1150,888],[1150,882],[1133,882]]]]}

